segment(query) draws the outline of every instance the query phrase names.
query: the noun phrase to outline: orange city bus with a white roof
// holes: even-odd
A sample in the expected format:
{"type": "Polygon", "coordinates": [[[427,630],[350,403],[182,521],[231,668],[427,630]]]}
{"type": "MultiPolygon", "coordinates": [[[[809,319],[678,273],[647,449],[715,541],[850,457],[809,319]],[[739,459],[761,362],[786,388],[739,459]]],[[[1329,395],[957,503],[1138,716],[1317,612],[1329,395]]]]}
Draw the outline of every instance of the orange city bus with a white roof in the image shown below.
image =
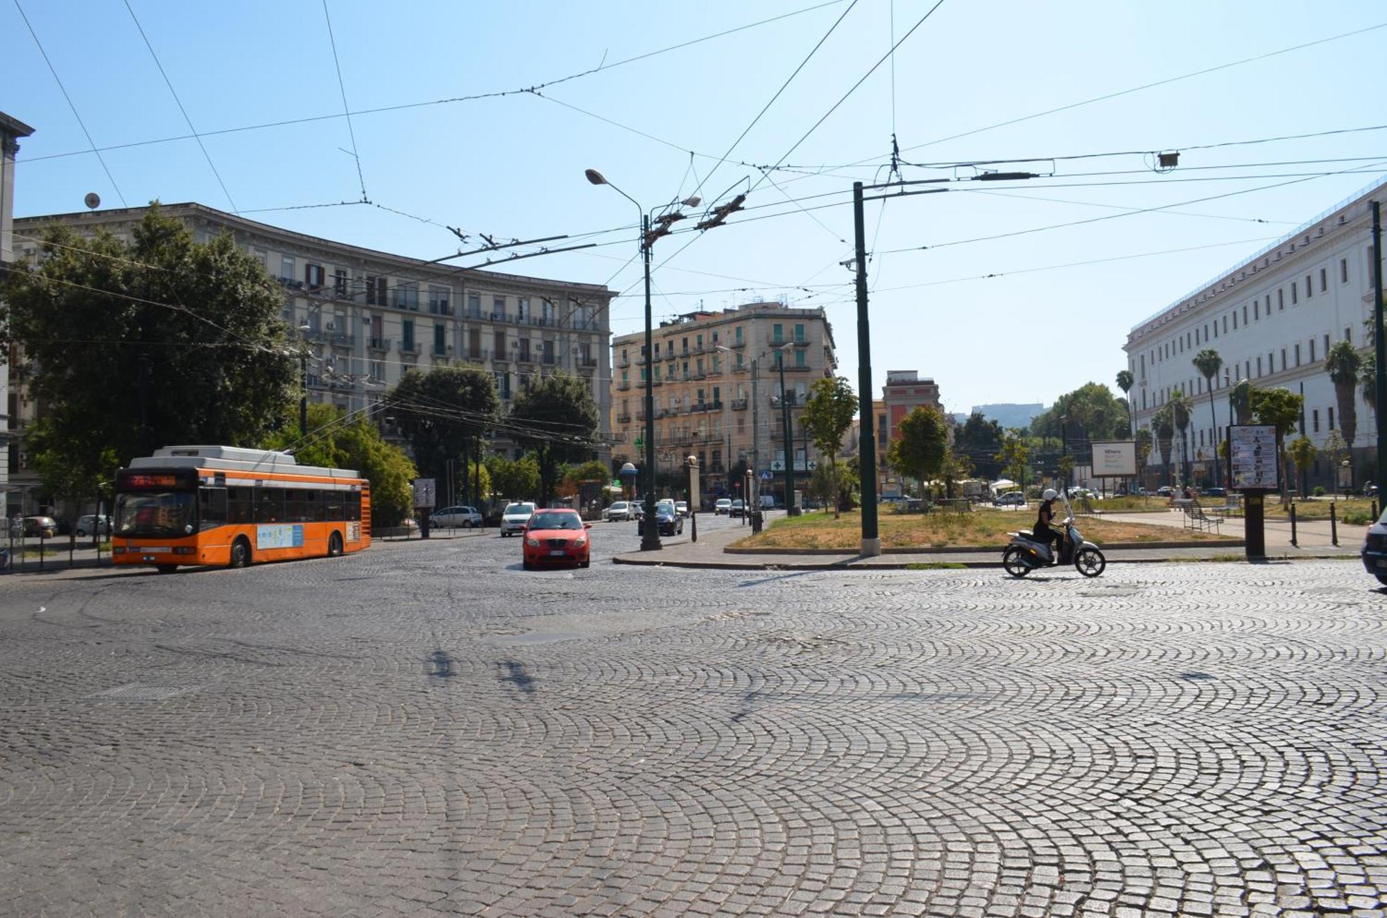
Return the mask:
{"type": "Polygon", "coordinates": [[[165,447],[115,474],[112,560],[245,567],[370,545],[370,481],[286,452],[165,447]]]}

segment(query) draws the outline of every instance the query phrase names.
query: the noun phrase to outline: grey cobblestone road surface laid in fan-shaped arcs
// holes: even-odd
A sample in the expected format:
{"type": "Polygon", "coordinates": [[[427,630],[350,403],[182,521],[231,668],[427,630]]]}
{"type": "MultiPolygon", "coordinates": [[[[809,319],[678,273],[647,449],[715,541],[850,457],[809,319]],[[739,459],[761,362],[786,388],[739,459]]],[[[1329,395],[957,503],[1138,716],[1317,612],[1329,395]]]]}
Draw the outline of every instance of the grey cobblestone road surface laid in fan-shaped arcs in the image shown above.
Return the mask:
{"type": "MultiPolygon", "coordinates": [[[[700,520],[700,530],[717,527],[700,520]]],[[[1356,563],[0,582],[0,912],[1384,915],[1356,563]]]]}

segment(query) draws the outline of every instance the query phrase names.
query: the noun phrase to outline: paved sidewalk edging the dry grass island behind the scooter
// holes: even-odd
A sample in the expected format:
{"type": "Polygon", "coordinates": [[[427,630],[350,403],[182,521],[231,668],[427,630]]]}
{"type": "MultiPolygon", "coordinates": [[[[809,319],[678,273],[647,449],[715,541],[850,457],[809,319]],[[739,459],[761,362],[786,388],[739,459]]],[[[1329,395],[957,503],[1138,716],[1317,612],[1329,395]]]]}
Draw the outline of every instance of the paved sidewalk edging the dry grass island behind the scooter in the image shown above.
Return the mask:
{"type": "MultiPolygon", "coordinates": [[[[1153,516],[1153,514],[1144,514],[1153,516]]],[[[1137,520],[1137,521],[1153,521],[1153,520],[1137,520]]],[[[1179,517],[1173,520],[1175,526],[1180,526],[1179,517]]],[[[1241,521],[1239,521],[1241,523],[1241,521]]],[[[1308,557],[1355,557],[1358,549],[1362,545],[1362,532],[1356,531],[1366,527],[1354,527],[1354,532],[1345,532],[1344,527],[1340,527],[1338,532],[1338,548],[1329,545],[1329,526],[1325,526],[1325,542],[1323,545],[1308,546],[1305,542],[1305,532],[1301,531],[1301,546],[1295,548],[1289,544],[1290,527],[1287,527],[1286,538],[1277,538],[1273,535],[1272,528],[1268,527],[1266,531],[1266,556],[1273,559],[1308,559],[1308,557]]],[[[718,532],[709,532],[706,535],[699,535],[698,542],[689,541],[688,537],[681,539],[666,539],[664,548],[659,552],[627,552],[626,555],[617,555],[612,559],[616,564],[645,564],[645,566],[667,566],[667,567],[705,567],[714,570],[832,570],[838,567],[870,567],[874,570],[904,570],[913,564],[947,564],[947,566],[963,566],[963,567],[1001,567],[1001,546],[992,549],[978,549],[976,552],[911,552],[902,555],[878,555],[877,557],[860,557],[852,552],[843,552],[841,555],[824,555],[818,552],[778,552],[774,555],[730,555],[724,549],[732,542],[745,538],[750,534],[749,530],[734,528],[724,530],[718,532]]],[[[1236,535],[1229,534],[1232,538],[1241,538],[1243,530],[1241,524],[1236,528],[1236,535]]],[[[1101,545],[1099,548],[1103,548],[1101,545]]],[[[1104,557],[1107,557],[1110,564],[1140,564],[1140,563],[1160,563],[1160,562],[1197,562],[1197,560],[1212,560],[1212,559],[1227,559],[1227,557],[1243,557],[1244,549],[1241,546],[1229,545],[1200,545],[1191,548],[1117,548],[1104,549],[1104,557]]]]}

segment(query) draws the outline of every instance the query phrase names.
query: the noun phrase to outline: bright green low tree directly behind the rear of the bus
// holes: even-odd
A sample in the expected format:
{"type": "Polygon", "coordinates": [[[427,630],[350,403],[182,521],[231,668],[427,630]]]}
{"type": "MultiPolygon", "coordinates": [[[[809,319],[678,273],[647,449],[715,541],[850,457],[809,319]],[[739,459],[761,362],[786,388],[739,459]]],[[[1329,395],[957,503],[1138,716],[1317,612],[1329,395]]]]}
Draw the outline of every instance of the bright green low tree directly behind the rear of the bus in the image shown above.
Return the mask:
{"type": "Polygon", "coordinates": [[[302,466],[355,469],[370,481],[370,516],[374,526],[399,526],[409,516],[419,476],[405,451],[386,442],[365,415],[348,419],[334,405],[313,402],[308,406],[308,437],[298,437],[298,409],[284,412],[280,428],[266,435],[264,449],[294,448],[294,460],[302,466]],[[302,440],[302,442],[298,442],[302,440]]]}

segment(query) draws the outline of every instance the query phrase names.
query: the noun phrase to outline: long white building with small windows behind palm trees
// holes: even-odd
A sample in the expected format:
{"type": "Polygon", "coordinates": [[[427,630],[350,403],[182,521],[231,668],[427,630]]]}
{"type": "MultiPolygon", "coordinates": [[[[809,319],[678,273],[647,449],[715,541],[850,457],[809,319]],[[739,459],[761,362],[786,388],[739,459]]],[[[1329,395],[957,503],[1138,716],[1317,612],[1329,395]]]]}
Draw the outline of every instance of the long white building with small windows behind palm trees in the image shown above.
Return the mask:
{"type": "MultiPolygon", "coordinates": [[[[1323,447],[1341,420],[1325,355],[1337,341],[1369,352],[1363,324],[1372,316],[1375,279],[1369,201],[1384,191],[1387,180],[1376,182],[1135,326],[1123,351],[1135,380],[1129,399],[1137,426],[1150,427],[1151,416],[1183,391],[1194,399],[1189,459],[1211,463],[1229,423],[1227,390],[1246,379],[1304,392],[1304,433],[1323,447]],[[1223,358],[1223,370],[1211,383],[1191,362],[1204,348],[1223,358]]],[[[1355,481],[1362,481],[1370,474],[1376,415],[1361,391],[1354,402],[1355,481]]],[[[1179,451],[1176,434],[1172,465],[1179,451]]],[[[1164,471],[1158,451],[1150,463],[1158,476],[1164,471]]],[[[1311,484],[1330,485],[1327,462],[1319,465],[1311,484]]]]}

